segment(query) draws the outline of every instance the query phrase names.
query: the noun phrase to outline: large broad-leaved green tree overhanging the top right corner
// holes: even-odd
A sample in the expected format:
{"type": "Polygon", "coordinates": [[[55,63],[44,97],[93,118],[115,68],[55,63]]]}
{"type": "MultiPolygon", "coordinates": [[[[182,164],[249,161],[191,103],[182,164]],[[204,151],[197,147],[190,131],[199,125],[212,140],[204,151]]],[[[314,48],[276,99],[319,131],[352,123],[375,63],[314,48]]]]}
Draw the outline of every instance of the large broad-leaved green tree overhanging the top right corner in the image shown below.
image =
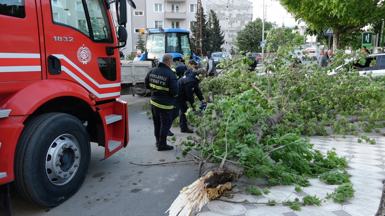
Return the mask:
{"type": "Polygon", "coordinates": [[[318,32],[325,27],[334,30],[333,48],[340,48],[341,35],[347,35],[368,24],[381,22],[385,12],[382,0],[279,0],[296,20],[318,32]],[[328,15],[328,17],[326,17],[328,15]]]}

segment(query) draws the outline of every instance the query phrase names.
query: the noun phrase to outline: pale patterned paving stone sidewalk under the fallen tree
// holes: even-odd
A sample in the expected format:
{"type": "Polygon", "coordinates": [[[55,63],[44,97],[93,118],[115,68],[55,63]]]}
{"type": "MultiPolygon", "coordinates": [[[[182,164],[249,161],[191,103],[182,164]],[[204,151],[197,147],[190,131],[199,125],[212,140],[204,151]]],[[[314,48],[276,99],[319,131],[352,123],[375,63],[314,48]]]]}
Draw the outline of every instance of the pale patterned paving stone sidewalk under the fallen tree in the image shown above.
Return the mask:
{"type": "MultiPolygon", "coordinates": [[[[381,135],[370,135],[376,140],[376,145],[358,143],[355,136],[342,136],[325,138],[323,136],[311,136],[311,143],[315,149],[325,153],[332,148],[336,149],[338,156],[346,156],[349,167],[346,168],[352,175],[350,180],[356,190],[355,197],[349,198],[343,203],[333,201],[323,203],[322,206],[304,206],[302,211],[294,211],[285,206],[266,206],[264,204],[235,204],[224,201],[213,200],[207,204],[196,216],[374,216],[382,194],[385,178],[385,137],[381,135]]],[[[237,179],[233,190],[244,191],[246,187],[258,186],[263,189],[268,187],[266,179],[248,179],[242,176],[237,179]]],[[[328,185],[318,179],[310,179],[311,186],[304,187],[301,193],[297,193],[293,186],[268,187],[271,193],[261,196],[248,194],[235,194],[232,201],[267,202],[274,199],[277,202],[302,198],[303,196],[317,194],[323,198],[326,193],[333,192],[338,185],[328,185]]],[[[227,199],[222,197],[222,199],[227,199]]]]}

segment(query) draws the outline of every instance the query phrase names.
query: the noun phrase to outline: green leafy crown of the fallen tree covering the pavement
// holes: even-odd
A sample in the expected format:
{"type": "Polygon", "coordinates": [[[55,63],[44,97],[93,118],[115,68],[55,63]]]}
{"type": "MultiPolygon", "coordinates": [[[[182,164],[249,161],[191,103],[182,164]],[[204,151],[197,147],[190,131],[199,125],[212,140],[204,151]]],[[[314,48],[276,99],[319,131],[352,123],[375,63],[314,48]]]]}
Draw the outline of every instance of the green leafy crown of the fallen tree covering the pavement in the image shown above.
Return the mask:
{"type": "MultiPolygon", "coordinates": [[[[273,44],[269,41],[277,40],[275,35],[270,32],[266,44],[273,44]]],[[[245,57],[220,78],[203,81],[201,88],[212,95],[211,103],[202,115],[193,115],[190,110],[187,117],[199,137],[191,136],[178,148],[182,155],[192,155],[204,164],[206,170],[200,173],[230,171],[236,177],[266,178],[271,186],[308,186],[308,178],[319,178],[328,184],[341,184],[330,199],[345,201],[354,192],[345,170],[347,161],[334,151],[323,155],[303,136],[328,136],[331,130],[373,143],[358,131],[384,126],[385,79],[360,76],[350,68],[333,71],[347,58],[338,51],[328,68],[313,64],[293,68],[285,61],[293,60],[291,46],[282,44],[275,55],[265,58],[263,74],[248,71],[245,57]],[[238,168],[223,169],[229,163],[238,168]]],[[[199,185],[212,182],[211,178],[201,179],[199,185]]],[[[184,192],[181,195],[186,195],[184,192]]],[[[316,197],[303,203],[320,204],[316,197]]],[[[300,209],[298,202],[286,205],[300,209]]]]}

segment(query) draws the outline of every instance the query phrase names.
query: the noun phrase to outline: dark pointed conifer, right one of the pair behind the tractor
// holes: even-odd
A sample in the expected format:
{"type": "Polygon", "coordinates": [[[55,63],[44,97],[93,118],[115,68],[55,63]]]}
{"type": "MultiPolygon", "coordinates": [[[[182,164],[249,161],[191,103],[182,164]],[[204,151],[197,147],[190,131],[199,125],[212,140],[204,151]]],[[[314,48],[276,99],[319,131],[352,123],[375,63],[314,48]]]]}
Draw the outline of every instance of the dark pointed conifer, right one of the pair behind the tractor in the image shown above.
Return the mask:
{"type": "Polygon", "coordinates": [[[221,46],[224,44],[224,33],[219,25],[218,17],[213,10],[210,10],[206,27],[208,35],[210,36],[206,46],[204,46],[205,50],[210,50],[211,52],[222,51],[221,46]]]}

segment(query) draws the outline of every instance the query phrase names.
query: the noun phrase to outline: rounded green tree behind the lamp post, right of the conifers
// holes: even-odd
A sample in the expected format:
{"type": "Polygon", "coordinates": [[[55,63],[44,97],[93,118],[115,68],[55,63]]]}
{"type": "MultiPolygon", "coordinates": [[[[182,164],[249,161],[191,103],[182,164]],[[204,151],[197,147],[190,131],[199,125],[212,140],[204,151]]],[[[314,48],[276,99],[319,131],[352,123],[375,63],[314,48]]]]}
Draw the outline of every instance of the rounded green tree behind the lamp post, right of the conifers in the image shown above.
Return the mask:
{"type": "MultiPolygon", "coordinates": [[[[265,36],[267,30],[276,27],[276,23],[265,22],[264,30],[265,36]]],[[[266,38],[266,37],[265,37],[266,38]]],[[[238,47],[238,51],[251,50],[251,52],[259,52],[262,41],[262,20],[261,18],[256,18],[252,22],[248,22],[244,29],[238,31],[235,36],[235,44],[238,47]]]]}

